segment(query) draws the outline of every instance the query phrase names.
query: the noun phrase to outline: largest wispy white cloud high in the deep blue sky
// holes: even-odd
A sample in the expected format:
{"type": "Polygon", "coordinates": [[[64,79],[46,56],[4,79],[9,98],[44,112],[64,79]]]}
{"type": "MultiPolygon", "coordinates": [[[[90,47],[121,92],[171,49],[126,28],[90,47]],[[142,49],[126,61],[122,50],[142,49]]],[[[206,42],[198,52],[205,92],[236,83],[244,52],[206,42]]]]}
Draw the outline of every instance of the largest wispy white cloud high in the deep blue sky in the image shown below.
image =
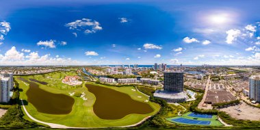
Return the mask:
{"type": "Polygon", "coordinates": [[[69,29],[72,30],[77,30],[77,31],[83,30],[85,34],[96,33],[96,31],[103,29],[99,22],[93,21],[92,19],[89,18],[82,18],[81,20],[67,23],[65,26],[69,27],[69,29]]]}

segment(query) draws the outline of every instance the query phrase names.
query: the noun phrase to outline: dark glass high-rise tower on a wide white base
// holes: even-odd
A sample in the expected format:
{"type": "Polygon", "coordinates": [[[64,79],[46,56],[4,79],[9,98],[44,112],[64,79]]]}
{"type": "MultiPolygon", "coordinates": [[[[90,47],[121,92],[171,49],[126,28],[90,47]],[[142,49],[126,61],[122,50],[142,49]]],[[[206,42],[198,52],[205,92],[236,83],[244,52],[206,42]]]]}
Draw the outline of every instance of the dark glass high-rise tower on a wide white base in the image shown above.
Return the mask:
{"type": "Polygon", "coordinates": [[[183,72],[165,72],[164,90],[169,92],[183,92],[183,72]]]}

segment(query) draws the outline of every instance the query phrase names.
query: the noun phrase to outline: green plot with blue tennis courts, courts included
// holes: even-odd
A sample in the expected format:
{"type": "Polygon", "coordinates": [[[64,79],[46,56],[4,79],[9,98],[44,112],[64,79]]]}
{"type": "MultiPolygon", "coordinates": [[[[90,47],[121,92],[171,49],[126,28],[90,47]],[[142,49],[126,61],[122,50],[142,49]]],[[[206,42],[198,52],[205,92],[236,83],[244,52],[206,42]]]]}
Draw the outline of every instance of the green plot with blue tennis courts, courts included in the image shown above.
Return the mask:
{"type": "Polygon", "coordinates": [[[166,118],[166,120],[182,125],[223,126],[216,115],[196,114],[194,112],[187,112],[182,116],[174,116],[166,118]]]}

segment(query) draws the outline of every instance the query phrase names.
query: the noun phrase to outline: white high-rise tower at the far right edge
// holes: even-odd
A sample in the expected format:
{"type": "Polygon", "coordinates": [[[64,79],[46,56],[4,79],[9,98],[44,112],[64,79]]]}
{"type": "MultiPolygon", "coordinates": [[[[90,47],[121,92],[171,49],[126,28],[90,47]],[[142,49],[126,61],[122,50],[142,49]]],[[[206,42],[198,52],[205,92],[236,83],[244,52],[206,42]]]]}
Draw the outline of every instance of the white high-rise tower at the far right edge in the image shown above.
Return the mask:
{"type": "Polygon", "coordinates": [[[260,102],[260,75],[249,78],[249,98],[260,102]]]}

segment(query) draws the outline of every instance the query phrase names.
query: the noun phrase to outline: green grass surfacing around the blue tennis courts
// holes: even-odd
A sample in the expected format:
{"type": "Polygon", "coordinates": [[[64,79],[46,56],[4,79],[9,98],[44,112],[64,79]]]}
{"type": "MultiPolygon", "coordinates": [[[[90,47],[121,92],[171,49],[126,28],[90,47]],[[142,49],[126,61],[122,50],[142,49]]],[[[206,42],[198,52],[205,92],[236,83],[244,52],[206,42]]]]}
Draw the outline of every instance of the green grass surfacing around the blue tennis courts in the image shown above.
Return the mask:
{"type": "MultiPolygon", "coordinates": [[[[181,122],[175,122],[172,119],[175,118],[187,118],[187,119],[194,119],[194,117],[188,116],[189,114],[191,114],[192,112],[187,112],[186,114],[183,114],[182,116],[174,116],[172,118],[166,118],[166,120],[170,121],[170,122],[174,122],[177,124],[183,124],[183,125],[190,125],[190,124],[186,124],[186,123],[181,123],[181,122]]],[[[207,120],[207,121],[211,121],[209,126],[223,126],[222,123],[218,120],[218,116],[213,115],[212,118],[196,118],[196,120],[207,120]]]]}

